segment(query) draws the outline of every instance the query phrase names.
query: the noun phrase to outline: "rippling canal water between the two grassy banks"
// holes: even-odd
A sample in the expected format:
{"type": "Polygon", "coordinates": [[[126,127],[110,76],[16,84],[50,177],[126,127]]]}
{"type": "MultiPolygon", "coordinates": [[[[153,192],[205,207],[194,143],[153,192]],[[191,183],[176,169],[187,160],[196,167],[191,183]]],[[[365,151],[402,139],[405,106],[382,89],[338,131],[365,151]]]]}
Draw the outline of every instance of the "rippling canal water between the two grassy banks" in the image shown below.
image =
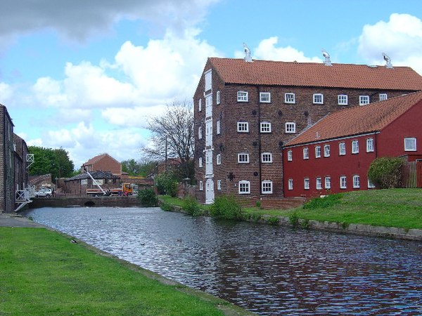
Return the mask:
{"type": "Polygon", "coordinates": [[[43,208],[27,216],[259,315],[422,315],[420,242],[158,208],[43,208]]]}

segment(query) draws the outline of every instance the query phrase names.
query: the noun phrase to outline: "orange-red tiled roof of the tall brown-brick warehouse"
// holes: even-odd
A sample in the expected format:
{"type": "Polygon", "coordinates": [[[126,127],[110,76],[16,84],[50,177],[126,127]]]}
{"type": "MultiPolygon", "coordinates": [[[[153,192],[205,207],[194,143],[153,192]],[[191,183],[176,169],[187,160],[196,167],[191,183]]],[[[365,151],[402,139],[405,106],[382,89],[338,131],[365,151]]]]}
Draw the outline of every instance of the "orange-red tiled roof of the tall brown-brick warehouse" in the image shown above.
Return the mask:
{"type": "Polygon", "coordinates": [[[319,86],[330,88],[373,88],[383,90],[422,90],[422,77],[410,67],[281,62],[234,58],[208,58],[228,84],[269,86],[319,86]]]}

